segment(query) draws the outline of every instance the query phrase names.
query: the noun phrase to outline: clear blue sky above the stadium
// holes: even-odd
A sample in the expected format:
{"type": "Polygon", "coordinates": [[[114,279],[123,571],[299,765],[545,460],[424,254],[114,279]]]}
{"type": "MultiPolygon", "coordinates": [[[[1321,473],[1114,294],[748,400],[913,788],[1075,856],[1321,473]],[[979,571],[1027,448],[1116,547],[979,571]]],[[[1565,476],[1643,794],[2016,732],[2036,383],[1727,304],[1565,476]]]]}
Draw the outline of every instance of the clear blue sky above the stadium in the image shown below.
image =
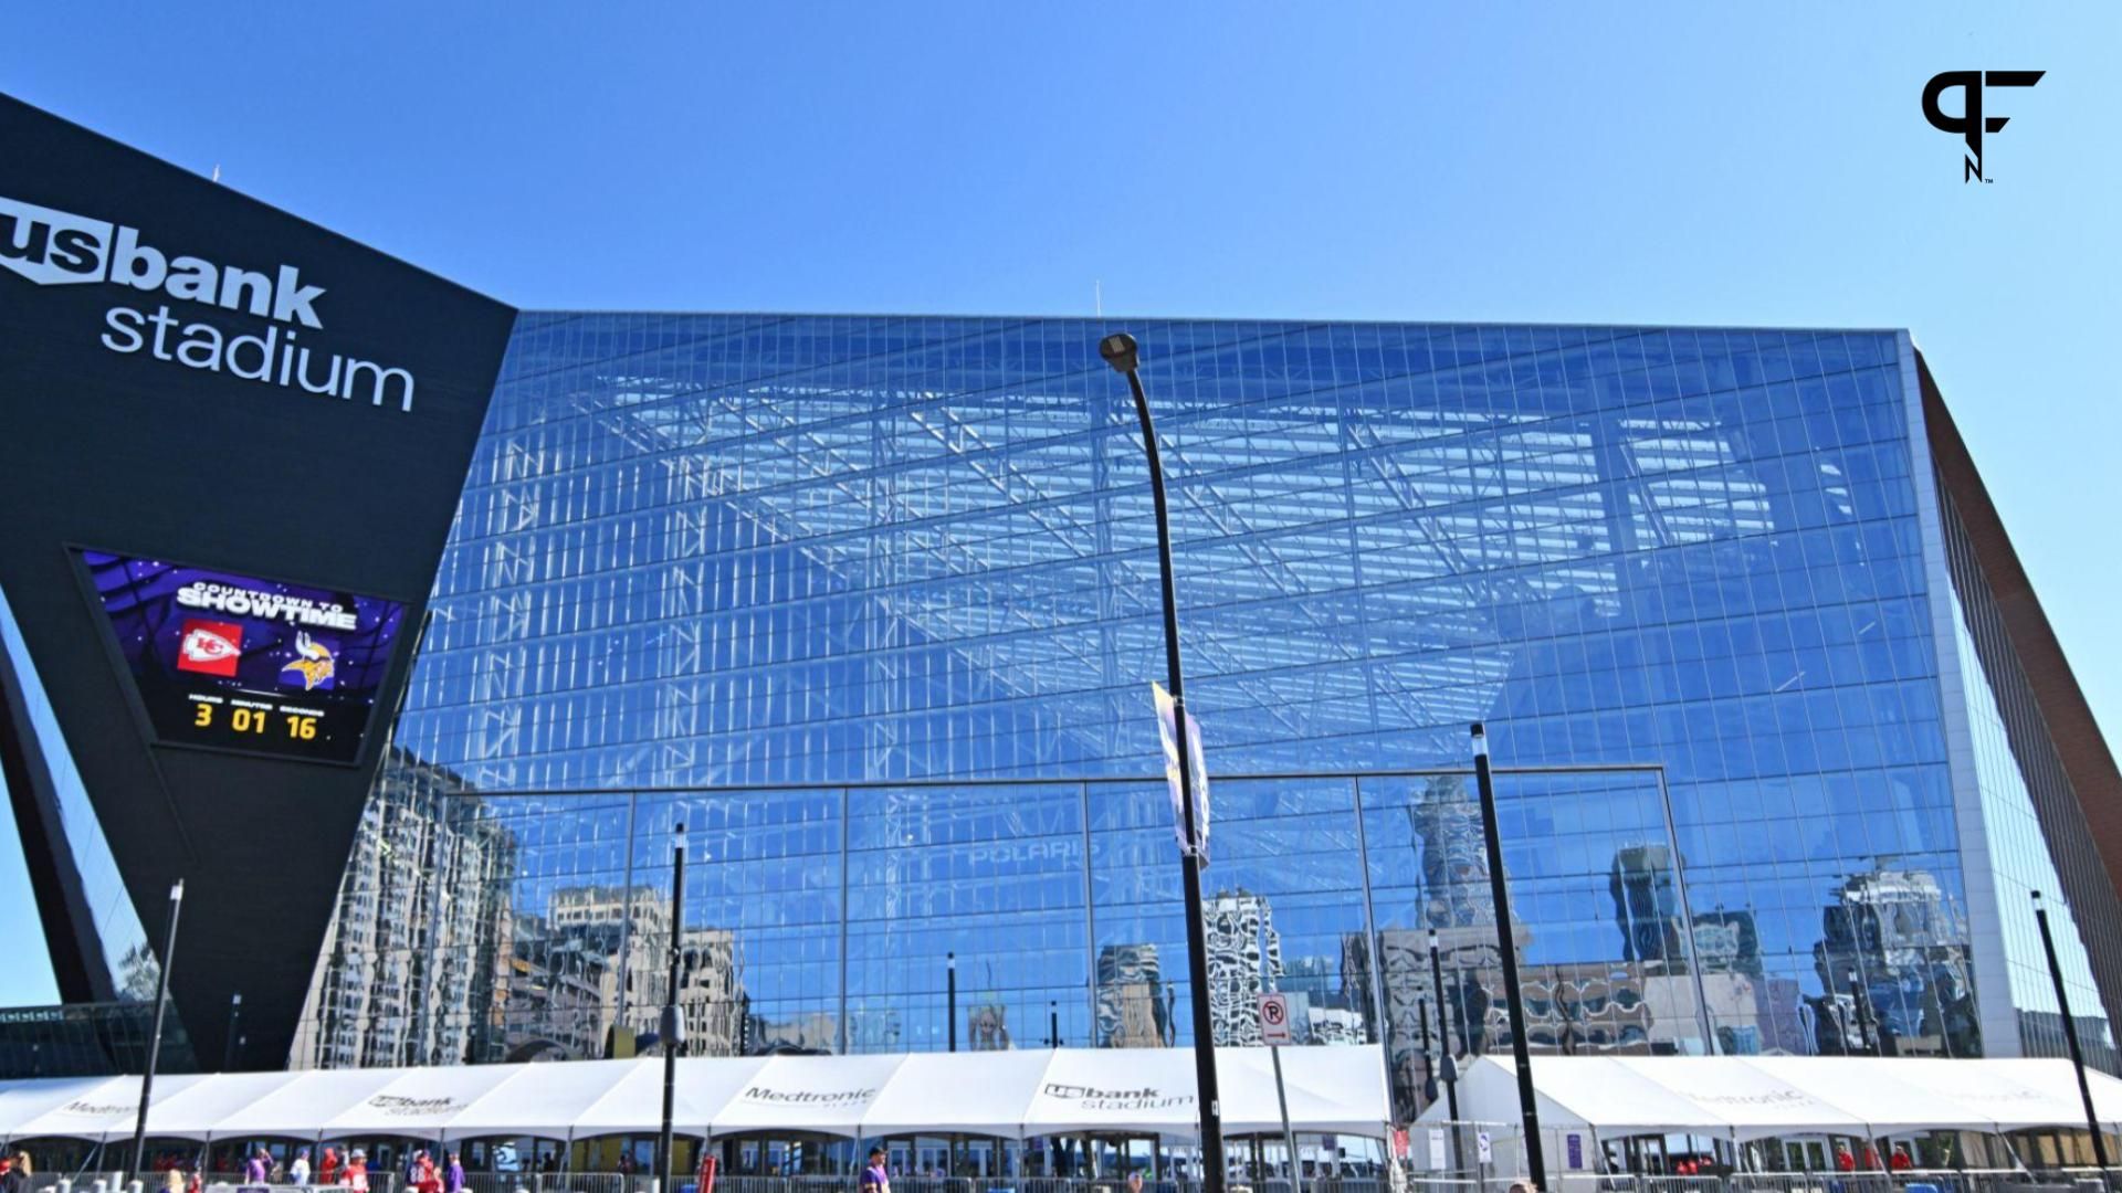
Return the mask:
{"type": "Polygon", "coordinates": [[[0,89],[528,308],[1910,327],[2122,732],[2122,6],[202,13],[11,6],[0,89]],[[2048,72],[1990,185],[1940,70],[2048,72]]]}

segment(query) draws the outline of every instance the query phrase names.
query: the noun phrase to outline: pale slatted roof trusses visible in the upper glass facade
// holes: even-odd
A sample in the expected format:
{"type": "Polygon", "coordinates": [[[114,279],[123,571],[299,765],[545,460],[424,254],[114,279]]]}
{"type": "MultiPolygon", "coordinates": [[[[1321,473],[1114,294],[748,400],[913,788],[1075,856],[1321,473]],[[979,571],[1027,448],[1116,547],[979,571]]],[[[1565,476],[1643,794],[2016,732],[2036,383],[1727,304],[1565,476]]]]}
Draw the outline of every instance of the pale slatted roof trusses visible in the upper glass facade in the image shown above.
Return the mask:
{"type": "MultiPolygon", "coordinates": [[[[1097,724],[1106,692],[1161,671],[1133,420],[1118,395],[1084,397],[1112,388],[1101,374],[936,365],[946,352],[1002,361],[995,344],[1025,325],[980,327],[775,376],[715,346],[736,335],[707,335],[539,384],[632,454],[696,473],[702,497],[741,497],[775,543],[849,577],[1004,698],[1097,724]],[[955,384],[929,388],[936,378],[955,384]]],[[[1460,724],[1490,711],[1511,671],[1498,609],[1589,599],[1611,613],[1619,552],[1770,524],[1761,484],[1712,425],[1617,416],[1602,469],[1589,416],[1462,403],[1473,365],[1422,374],[1439,382],[1434,405],[1379,382],[1273,371],[1256,386],[1265,397],[1186,393],[1216,361],[1301,333],[1269,327],[1237,344],[1233,331],[1159,363],[1178,378],[1161,433],[1182,601],[1218,607],[1186,630],[1212,707],[1243,705],[1311,739],[1460,724]]],[[[845,594],[813,596],[828,599],[845,594]]]]}

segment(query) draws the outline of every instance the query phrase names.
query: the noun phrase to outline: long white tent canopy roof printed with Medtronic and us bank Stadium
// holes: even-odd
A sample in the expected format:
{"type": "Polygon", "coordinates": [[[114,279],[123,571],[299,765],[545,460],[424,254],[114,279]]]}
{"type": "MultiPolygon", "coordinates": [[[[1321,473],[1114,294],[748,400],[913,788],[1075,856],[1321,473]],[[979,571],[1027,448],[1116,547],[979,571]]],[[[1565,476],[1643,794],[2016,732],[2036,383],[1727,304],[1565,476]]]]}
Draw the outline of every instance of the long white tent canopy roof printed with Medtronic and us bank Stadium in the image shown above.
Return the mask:
{"type": "MultiPolygon", "coordinates": [[[[1218,1049],[1224,1127],[1275,1131],[1265,1049],[1218,1049]]],[[[1379,1049],[1284,1049],[1290,1125],[1381,1134],[1379,1049]]],[[[0,1140],[132,1136],[140,1078],[0,1083],[0,1140]]],[[[410,1136],[590,1138],[662,1121],[662,1059],[299,1074],[166,1076],[151,1136],[303,1140],[410,1136]]],[[[1190,1138],[1188,1049],[700,1057],[677,1064],[673,1125],[685,1134],[804,1131],[847,1138],[966,1131],[1002,1138],[1131,1131],[1190,1138]]]]}

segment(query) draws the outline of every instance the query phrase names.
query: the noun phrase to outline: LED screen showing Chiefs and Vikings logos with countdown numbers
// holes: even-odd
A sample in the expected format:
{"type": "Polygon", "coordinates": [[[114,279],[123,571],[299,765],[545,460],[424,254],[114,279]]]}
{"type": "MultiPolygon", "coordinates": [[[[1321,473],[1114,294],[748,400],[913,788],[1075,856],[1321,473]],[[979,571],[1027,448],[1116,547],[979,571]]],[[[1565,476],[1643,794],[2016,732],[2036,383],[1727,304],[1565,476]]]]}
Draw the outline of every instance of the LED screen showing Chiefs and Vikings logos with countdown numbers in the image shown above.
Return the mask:
{"type": "Polygon", "coordinates": [[[405,607],[79,550],[161,745],[352,764],[405,607]]]}

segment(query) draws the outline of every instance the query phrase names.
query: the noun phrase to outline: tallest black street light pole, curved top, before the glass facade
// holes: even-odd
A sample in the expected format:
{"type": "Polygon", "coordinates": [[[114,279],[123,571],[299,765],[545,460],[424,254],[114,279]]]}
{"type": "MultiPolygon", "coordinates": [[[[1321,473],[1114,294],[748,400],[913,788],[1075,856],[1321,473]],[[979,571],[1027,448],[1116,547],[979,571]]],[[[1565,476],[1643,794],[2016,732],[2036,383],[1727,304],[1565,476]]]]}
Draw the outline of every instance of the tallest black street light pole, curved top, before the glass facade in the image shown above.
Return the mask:
{"type": "Polygon", "coordinates": [[[1127,376],[1135,395],[1135,420],[1142,425],[1142,452],[1150,465],[1150,501],[1156,507],[1156,573],[1165,599],[1165,679],[1171,688],[1171,739],[1178,745],[1180,826],[1186,847],[1180,853],[1182,894],[1186,898],[1186,985],[1195,1019],[1195,1087],[1201,1106],[1201,1193],[1224,1193],[1222,1097],[1216,1091],[1216,1021],[1207,1004],[1207,928],[1201,913],[1201,836],[1195,830],[1193,756],[1186,743],[1186,677],[1180,671],[1180,605],[1171,582],[1171,512],[1165,505],[1165,467],[1156,454],[1156,425],[1150,420],[1150,399],[1142,393],[1135,371],[1140,348],[1135,338],[1118,331],[1097,344],[1097,355],[1114,371],[1127,376]]]}

